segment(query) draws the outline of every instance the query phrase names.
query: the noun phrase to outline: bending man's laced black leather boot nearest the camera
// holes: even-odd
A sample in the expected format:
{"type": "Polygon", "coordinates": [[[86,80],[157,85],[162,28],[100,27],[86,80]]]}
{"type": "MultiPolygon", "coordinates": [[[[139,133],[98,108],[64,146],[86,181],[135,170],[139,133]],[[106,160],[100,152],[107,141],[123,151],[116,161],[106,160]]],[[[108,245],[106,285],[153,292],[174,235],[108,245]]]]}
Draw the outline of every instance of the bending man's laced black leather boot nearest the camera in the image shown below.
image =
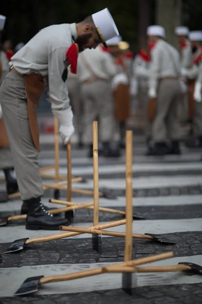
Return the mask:
{"type": "Polygon", "coordinates": [[[58,230],[60,225],[70,225],[69,220],[49,214],[41,203],[40,197],[26,200],[26,202],[28,204],[27,230],[58,230]]]}

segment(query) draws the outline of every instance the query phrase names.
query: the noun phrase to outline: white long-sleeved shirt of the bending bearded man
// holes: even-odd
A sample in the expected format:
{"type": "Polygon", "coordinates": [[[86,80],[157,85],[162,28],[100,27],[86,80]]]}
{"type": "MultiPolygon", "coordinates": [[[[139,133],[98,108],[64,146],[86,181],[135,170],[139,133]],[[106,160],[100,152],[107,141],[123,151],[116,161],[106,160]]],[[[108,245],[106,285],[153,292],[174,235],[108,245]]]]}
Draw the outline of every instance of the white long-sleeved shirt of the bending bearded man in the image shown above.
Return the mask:
{"type": "Polygon", "coordinates": [[[41,29],[12,58],[12,65],[21,74],[39,73],[48,76],[52,110],[70,106],[67,85],[62,80],[68,48],[77,39],[76,24],[51,25],[41,29]]]}

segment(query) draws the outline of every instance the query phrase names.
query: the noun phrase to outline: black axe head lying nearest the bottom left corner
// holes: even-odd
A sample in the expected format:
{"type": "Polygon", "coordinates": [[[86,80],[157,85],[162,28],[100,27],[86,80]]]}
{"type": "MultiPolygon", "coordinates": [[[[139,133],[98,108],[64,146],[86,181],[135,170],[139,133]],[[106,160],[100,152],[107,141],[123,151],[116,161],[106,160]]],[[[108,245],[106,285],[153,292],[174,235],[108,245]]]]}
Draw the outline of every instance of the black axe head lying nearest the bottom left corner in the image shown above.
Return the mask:
{"type": "Polygon", "coordinates": [[[36,292],[41,278],[43,278],[43,276],[26,279],[14,295],[24,295],[36,292]]]}

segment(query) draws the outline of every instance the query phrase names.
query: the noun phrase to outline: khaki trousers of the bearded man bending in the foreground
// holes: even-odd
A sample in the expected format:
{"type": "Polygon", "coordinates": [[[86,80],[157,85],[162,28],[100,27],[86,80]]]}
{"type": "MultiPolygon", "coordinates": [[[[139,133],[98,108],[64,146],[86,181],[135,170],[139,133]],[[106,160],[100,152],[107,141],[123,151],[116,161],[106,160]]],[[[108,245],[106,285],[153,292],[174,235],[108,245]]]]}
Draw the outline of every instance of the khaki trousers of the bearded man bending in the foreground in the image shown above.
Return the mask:
{"type": "Polygon", "coordinates": [[[22,200],[43,195],[36,150],[29,126],[25,79],[11,70],[0,88],[3,117],[22,200]]]}

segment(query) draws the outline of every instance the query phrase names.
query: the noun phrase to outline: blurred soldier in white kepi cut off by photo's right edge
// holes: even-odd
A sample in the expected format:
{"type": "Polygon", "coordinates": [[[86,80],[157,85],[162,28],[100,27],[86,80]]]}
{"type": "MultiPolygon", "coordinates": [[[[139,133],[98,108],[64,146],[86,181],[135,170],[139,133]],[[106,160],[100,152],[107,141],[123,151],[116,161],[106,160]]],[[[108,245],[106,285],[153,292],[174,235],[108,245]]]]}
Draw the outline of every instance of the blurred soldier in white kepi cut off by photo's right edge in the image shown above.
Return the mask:
{"type": "Polygon", "coordinates": [[[188,147],[202,147],[202,105],[193,98],[198,66],[202,57],[202,31],[189,34],[192,48],[192,62],[188,68],[182,68],[183,77],[187,78],[189,90],[189,120],[192,123],[193,140],[186,143],[188,147]]]}

